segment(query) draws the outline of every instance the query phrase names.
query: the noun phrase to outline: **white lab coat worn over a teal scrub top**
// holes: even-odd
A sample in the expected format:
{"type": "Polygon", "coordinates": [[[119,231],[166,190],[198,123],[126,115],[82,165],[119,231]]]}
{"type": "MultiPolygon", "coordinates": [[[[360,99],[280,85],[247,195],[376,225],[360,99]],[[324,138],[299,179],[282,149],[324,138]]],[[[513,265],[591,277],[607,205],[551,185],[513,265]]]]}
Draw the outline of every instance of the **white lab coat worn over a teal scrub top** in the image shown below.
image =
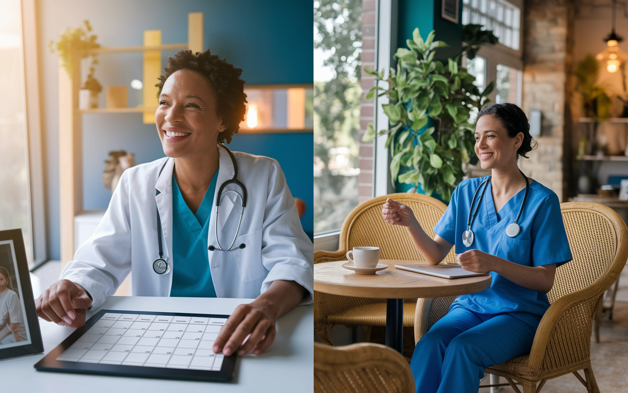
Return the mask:
{"type": "MultiPolygon", "coordinates": [[[[295,201],[279,163],[268,157],[234,152],[238,177],[247,188],[247,204],[234,252],[218,250],[215,238],[215,198],[223,182],[232,179],[234,166],[229,154],[219,147],[220,169],[210,216],[207,252],[212,281],[218,297],[256,298],[274,280],[293,280],[310,294],[301,304],[313,301],[313,245],[305,235],[295,201]]],[[[172,172],[175,160],[161,158],[124,171],[109,208],[94,235],[83,243],[68,262],[60,279],[82,285],[99,307],[129,272],[133,273],[133,296],[170,296],[176,260],[172,253],[172,172]],[[163,167],[163,170],[161,170],[163,167]],[[161,170],[161,174],[160,174],[161,170]],[[157,238],[159,211],[163,252],[170,272],[156,274],[153,261],[159,258],[157,238]]],[[[218,233],[227,249],[236,233],[241,200],[229,184],[220,202],[218,233]]]]}

